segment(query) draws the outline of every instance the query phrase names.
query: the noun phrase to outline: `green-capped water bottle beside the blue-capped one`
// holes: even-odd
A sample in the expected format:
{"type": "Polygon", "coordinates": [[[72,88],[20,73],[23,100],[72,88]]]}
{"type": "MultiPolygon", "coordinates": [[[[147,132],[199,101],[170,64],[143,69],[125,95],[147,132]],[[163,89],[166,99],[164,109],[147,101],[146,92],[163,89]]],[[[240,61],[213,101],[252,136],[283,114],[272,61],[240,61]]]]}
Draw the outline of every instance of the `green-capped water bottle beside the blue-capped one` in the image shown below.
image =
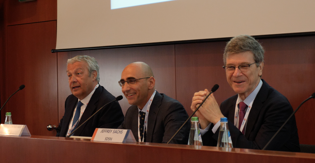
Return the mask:
{"type": "Polygon", "coordinates": [[[198,117],[192,117],[191,123],[192,123],[192,126],[190,127],[188,145],[201,146],[202,140],[201,140],[201,134],[200,134],[200,129],[198,125],[198,117]]]}

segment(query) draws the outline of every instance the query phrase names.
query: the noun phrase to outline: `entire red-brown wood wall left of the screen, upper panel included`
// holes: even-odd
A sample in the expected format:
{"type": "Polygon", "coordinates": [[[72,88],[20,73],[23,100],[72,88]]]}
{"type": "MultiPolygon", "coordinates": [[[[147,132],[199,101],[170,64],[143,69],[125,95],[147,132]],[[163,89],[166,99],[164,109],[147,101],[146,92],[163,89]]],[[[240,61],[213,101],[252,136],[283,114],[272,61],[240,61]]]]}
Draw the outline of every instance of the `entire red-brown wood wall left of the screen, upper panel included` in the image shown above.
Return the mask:
{"type": "Polygon", "coordinates": [[[12,112],[14,124],[26,124],[34,135],[48,132],[48,123],[58,122],[57,0],[19,3],[0,1],[0,98],[1,105],[21,84],[24,90],[12,96],[1,111],[12,112]]]}

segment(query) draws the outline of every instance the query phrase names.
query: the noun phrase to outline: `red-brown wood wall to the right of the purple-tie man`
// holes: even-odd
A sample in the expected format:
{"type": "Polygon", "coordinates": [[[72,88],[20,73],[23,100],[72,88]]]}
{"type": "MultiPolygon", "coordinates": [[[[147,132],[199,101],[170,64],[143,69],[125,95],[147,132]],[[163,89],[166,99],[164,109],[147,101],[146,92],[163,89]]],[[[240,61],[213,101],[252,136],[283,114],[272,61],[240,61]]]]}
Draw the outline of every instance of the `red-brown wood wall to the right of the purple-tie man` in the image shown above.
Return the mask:
{"type": "MultiPolygon", "coordinates": [[[[289,99],[295,110],[315,92],[315,37],[262,39],[265,54],[263,78],[289,99]]],[[[315,144],[315,99],[295,114],[301,144],[315,144]]]]}

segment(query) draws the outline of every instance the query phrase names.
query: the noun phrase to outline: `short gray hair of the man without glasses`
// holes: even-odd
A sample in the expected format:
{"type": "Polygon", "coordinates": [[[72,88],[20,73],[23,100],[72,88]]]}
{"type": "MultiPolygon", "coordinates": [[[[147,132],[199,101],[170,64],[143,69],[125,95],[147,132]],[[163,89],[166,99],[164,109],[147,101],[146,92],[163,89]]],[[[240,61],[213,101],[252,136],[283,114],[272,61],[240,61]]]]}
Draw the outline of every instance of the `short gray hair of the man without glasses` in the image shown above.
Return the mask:
{"type": "Polygon", "coordinates": [[[91,76],[93,71],[97,72],[96,80],[100,82],[100,66],[98,65],[97,61],[94,57],[90,57],[87,55],[77,55],[72,59],[67,60],[68,64],[74,64],[75,62],[86,62],[88,64],[89,76],[91,76]]]}

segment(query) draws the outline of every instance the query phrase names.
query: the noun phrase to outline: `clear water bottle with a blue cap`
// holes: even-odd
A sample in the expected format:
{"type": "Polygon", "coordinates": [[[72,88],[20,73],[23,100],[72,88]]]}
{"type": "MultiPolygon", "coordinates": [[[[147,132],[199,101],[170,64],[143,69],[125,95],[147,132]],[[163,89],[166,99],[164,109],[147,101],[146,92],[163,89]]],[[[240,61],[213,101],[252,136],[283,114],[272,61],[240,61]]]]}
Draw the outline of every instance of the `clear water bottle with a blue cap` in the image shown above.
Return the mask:
{"type": "Polygon", "coordinates": [[[227,126],[227,118],[221,118],[220,121],[221,125],[217,147],[233,148],[229,127],[227,126]]]}

